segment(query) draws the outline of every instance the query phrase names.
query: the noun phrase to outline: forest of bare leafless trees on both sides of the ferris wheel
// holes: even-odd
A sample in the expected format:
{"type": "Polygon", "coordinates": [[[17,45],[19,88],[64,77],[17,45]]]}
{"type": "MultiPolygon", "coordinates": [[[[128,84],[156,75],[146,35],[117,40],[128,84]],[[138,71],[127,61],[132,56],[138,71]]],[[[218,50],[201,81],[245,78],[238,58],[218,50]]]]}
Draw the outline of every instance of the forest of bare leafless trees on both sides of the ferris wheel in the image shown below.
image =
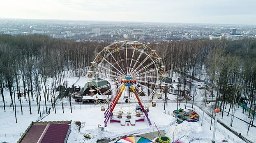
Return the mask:
{"type": "MultiPolygon", "coordinates": [[[[42,98],[45,102],[51,101],[51,98],[55,97],[55,92],[49,93],[46,90],[48,86],[66,86],[66,77],[86,76],[90,62],[107,45],[108,42],[74,42],[42,35],[1,35],[0,92],[3,101],[7,98],[3,91],[8,90],[14,103],[13,110],[16,111],[14,91],[25,91],[28,95],[26,101],[29,102],[30,114],[30,103],[36,101],[38,114],[41,116],[39,101],[42,98]],[[53,81],[50,83],[48,78],[53,81]]],[[[184,79],[190,75],[192,78],[208,80],[210,93],[217,92],[216,102],[212,106],[224,110],[227,103],[231,105],[228,113],[225,115],[222,112],[221,115],[231,116],[231,126],[239,102],[250,106],[249,127],[253,125],[256,109],[255,39],[150,43],[149,47],[157,50],[163,58],[166,69],[170,71],[168,76],[173,77],[178,73],[184,79]]],[[[23,114],[22,103],[19,104],[23,114]]],[[[5,110],[5,101],[3,106],[5,110]]],[[[45,108],[47,111],[46,103],[45,108]]],[[[63,108],[62,112],[64,113],[63,108]]],[[[242,112],[247,111],[243,109],[242,112]]]]}

